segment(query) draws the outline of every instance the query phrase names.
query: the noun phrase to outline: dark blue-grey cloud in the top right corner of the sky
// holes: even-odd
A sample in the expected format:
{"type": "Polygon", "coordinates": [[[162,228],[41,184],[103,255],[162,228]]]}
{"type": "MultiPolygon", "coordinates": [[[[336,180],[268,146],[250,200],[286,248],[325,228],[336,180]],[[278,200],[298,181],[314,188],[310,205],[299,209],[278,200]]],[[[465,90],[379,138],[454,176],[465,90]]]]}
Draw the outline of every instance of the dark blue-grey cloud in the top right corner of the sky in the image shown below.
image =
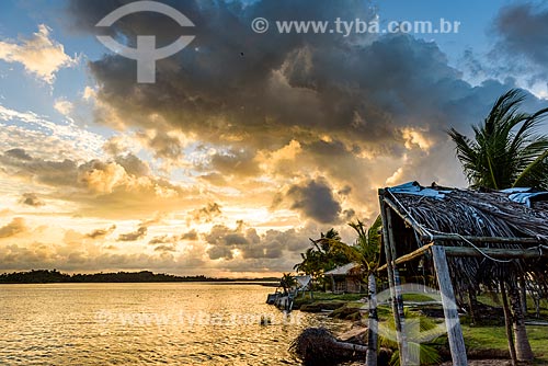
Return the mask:
{"type": "Polygon", "coordinates": [[[523,57],[548,71],[548,9],[530,2],[502,8],[494,21],[500,37],[495,52],[523,57]]]}

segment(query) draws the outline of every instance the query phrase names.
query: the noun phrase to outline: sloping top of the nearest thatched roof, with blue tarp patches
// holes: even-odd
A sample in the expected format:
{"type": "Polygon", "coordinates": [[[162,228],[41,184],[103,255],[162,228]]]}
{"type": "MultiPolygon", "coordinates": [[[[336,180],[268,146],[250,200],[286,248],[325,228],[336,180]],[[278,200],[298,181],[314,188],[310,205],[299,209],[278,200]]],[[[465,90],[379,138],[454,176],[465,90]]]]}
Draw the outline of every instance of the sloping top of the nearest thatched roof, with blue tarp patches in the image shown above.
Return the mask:
{"type": "Polygon", "coordinates": [[[548,242],[548,192],[532,194],[538,201],[534,201],[529,208],[525,203],[511,199],[516,196],[511,191],[423,187],[416,182],[402,186],[388,188],[389,195],[404,207],[403,213],[407,210],[432,231],[476,237],[545,238],[548,242]],[[410,185],[418,191],[399,188],[410,185]]]}

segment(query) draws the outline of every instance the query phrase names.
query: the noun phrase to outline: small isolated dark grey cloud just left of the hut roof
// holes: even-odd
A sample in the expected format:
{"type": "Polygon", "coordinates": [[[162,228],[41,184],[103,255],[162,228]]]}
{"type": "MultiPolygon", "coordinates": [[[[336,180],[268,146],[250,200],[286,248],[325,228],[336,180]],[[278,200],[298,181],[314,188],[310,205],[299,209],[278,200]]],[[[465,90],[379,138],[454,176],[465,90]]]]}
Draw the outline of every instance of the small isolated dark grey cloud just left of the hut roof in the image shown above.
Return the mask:
{"type": "Polygon", "coordinates": [[[292,202],[293,209],[318,222],[336,222],[341,213],[341,204],[333,196],[329,184],[321,179],[290,186],[286,197],[292,202]]]}

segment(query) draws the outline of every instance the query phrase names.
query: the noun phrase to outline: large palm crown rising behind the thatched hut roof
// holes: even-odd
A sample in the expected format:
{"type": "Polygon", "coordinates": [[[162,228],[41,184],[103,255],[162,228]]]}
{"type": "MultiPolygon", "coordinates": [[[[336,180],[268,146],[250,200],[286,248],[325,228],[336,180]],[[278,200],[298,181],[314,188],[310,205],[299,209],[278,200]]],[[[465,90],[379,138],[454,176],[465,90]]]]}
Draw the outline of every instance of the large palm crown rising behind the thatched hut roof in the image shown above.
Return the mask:
{"type": "Polygon", "coordinates": [[[548,136],[536,134],[548,108],[520,112],[524,99],[516,89],[500,96],[483,123],[473,126],[475,140],[449,130],[471,187],[548,188],[548,136]]]}

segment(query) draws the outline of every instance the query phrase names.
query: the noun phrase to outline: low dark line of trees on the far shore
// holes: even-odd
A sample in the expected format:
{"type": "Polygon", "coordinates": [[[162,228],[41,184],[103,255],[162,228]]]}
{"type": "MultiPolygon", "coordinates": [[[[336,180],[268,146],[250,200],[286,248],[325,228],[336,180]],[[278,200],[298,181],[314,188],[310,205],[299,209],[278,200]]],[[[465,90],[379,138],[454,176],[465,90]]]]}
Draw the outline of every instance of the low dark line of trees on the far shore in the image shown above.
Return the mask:
{"type": "Polygon", "coordinates": [[[175,276],[163,273],[117,272],[67,274],[57,270],[38,270],[0,274],[0,284],[56,284],[56,283],[152,283],[152,282],[270,282],[276,278],[213,278],[204,275],[175,276]]]}

